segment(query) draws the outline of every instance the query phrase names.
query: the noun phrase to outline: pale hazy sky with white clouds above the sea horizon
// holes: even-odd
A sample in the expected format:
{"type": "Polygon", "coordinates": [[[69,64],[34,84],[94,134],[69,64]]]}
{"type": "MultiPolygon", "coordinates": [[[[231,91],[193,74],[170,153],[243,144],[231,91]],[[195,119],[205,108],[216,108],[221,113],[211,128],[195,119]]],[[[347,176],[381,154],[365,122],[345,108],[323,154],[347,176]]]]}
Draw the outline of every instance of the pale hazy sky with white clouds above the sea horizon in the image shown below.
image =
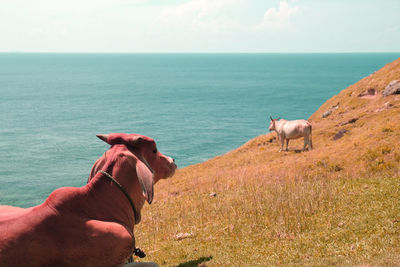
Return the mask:
{"type": "Polygon", "coordinates": [[[0,0],[0,52],[399,52],[400,0],[0,0]]]}

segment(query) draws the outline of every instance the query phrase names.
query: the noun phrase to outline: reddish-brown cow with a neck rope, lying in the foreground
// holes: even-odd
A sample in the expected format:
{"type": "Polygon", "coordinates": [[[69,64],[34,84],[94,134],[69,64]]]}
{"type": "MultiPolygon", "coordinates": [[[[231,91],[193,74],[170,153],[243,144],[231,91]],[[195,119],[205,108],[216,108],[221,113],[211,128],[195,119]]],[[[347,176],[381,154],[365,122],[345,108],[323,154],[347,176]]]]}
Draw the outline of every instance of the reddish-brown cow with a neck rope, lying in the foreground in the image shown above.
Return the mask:
{"type": "Polygon", "coordinates": [[[99,138],[112,146],[87,185],[59,188],[27,209],[0,206],[0,266],[120,266],[132,255],[140,210],[176,165],[149,137],[99,138]]]}

